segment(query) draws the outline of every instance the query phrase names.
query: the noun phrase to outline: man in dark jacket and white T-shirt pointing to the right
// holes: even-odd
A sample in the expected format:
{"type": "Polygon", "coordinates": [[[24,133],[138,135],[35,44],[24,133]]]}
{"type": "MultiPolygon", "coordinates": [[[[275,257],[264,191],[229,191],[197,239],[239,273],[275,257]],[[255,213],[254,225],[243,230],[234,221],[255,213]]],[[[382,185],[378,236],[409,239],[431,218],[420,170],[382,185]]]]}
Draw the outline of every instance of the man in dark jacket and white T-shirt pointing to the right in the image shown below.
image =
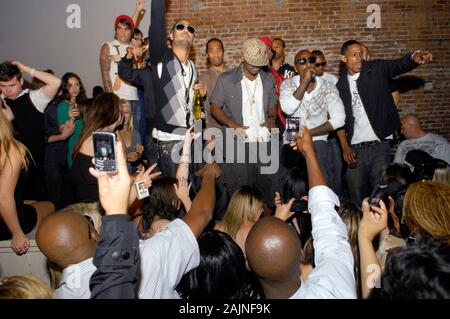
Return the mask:
{"type": "Polygon", "coordinates": [[[391,161],[389,142],[400,129],[400,119],[389,80],[432,61],[427,50],[397,60],[364,61],[361,44],[346,41],[341,47],[345,68],[336,87],[345,105],[345,132],[338,132],[350,198],[358,205],[379,182],[391,161]]]}

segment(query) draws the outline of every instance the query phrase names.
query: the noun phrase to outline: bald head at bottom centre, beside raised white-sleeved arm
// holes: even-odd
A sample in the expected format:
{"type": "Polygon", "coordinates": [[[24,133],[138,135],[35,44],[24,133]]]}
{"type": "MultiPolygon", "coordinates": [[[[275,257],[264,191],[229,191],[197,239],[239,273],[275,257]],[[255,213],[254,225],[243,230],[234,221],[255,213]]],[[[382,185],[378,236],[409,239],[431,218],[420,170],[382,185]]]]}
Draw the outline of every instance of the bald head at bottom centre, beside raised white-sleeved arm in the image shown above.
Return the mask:
{"type": "Polygon", "coordinates": [[[248,234],[245,251],[248,263],[261,280],[299,280],[300,241],[284,221],[276,217],[260,219],[248,234]]]}

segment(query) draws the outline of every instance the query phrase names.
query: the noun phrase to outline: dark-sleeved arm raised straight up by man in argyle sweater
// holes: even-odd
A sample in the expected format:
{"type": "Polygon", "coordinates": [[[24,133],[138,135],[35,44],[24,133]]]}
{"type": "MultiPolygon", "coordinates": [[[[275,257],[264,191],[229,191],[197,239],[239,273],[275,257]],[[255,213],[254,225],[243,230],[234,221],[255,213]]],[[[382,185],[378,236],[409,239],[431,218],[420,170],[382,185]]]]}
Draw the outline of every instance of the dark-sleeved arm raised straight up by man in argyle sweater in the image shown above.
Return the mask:
{"type": "Polygon", "coordinates": [[[150,46],[150,62],[152,65],[157,65],[161,62],[164,51],[166,49],[166,1],[152,0],[152,12],[150,27],[148,29],[148,36],[152,45],[150,46]]]}

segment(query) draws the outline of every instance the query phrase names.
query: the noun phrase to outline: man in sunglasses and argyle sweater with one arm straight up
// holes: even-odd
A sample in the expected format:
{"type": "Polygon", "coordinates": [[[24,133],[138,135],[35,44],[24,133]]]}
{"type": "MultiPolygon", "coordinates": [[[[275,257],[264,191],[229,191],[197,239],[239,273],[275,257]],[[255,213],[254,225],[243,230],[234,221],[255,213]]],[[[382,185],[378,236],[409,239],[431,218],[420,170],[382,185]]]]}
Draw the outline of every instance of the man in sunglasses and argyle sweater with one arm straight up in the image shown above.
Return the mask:
{"type": "MultiPolygon", "coordinates": [[[[193,124],[194,87],[197,68],[189,60],[194,43],[195,27],[181,19],[169,33],[172,42],[167,47],[165,33],[166,1],[152,1],[149,38],[152,65],[152,89],[155,96],[154,128],[152,136],[157,143],[158,167],[164,175],[175,176],[177,163],[172,150],[184,140],[184,133],[193,124]]],[[[204,96],[206,86],[199,84],[204,96]]]]}

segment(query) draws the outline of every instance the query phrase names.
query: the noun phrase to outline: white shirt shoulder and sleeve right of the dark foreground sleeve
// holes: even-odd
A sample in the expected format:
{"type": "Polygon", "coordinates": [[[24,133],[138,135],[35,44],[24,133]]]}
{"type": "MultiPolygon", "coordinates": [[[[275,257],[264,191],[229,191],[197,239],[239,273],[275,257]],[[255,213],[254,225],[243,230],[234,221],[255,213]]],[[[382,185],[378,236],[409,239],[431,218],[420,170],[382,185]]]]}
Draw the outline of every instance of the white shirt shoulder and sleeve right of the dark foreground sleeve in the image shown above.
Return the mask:
{"type": "Polygon", "coordinates": [[[139,299],[180,299],[175,287],[181,277],[200,264],[197,239],[189,226],[175,219],[142,241],[139,299]]]}

